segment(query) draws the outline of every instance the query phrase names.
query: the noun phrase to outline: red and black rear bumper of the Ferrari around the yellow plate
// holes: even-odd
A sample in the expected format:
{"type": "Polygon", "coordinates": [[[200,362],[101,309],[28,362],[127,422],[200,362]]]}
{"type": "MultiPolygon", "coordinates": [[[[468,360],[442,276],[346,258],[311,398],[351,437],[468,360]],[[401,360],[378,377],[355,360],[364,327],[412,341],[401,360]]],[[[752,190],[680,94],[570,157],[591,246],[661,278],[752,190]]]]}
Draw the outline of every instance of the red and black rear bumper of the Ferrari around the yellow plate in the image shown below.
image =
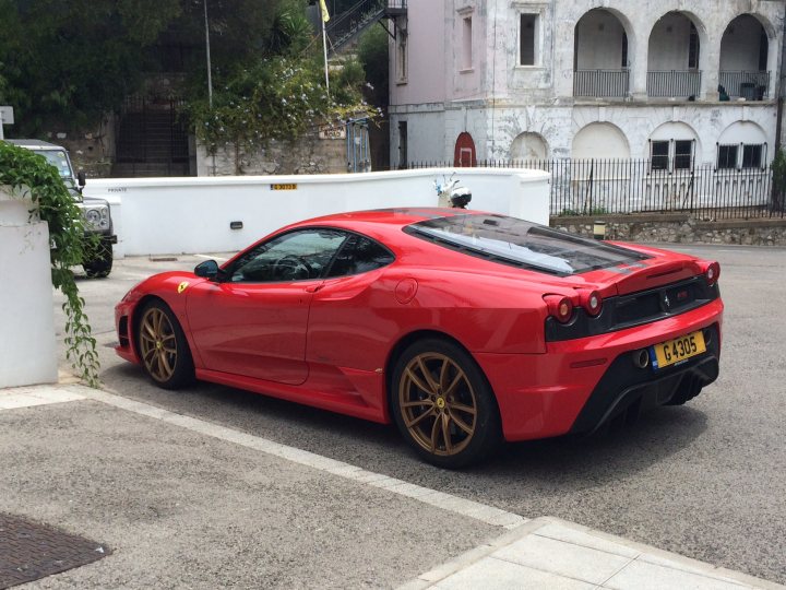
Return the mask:
{"type": "Polygon", "coordinates": [[[497,397],[507,440],[597,429],[633,404],[668,403],[683,386],[717,378],[723,303],[644,326],[548,343],[545,354],[476,353],[497,397]],[[662,370],[636,367],[632,354],[695,330],[711,331],[707,351],[662,370]],[[690,384],[689,380],[695,380],[690,384]]]}

